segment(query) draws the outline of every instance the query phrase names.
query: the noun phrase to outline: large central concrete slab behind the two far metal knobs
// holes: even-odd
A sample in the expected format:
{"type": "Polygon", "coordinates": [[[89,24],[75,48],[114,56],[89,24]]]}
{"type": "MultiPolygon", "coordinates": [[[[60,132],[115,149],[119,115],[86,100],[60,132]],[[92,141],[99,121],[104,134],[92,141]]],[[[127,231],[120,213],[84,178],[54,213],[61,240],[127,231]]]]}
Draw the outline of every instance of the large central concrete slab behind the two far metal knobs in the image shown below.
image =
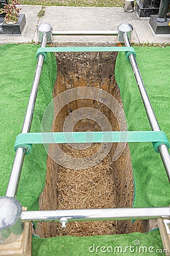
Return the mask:
{"type": "MultiPolygon", "coordinates": [[[[123,8],[48,6],[39,23],[47,22],[52,25],[53,30],[117,30],[122,22],[131,23],[133,16],[133,14],[125,13],[123,8]]],[[[37,41],[36,35],[34,40],[37,41]]],[[[135,31],[133,40],[135,43],[139,43],[135,31]]],[[[116,41],[114,36],[54,36],[54,42],[108,44],[116,41]]]]}

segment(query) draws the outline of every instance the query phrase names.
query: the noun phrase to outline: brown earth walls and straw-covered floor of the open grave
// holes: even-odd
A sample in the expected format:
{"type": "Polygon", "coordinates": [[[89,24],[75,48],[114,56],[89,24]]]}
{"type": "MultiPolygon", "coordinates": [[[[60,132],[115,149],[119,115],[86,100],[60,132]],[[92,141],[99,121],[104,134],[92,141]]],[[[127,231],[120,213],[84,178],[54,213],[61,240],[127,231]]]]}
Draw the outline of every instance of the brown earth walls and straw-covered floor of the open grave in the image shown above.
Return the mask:
{"type": "MultiPolygon", "coordinates": [[[[117,53],[56,53],[57,82],[54,97],[59,93],[78,86],[94,86],[112,94],[122,105],[120,90],[114,79],[117,53]]],[[[54,122],[54,131],[62,131],[67,115],[82,107],[100,110],[109,119],[112,129],[120,130],[117,118],[104,104],[93,100],[75,100],[62,108],[54,122]]],[[[121,109],[116,109],[119,113],[121,109]]],[[[125,118],[122,118],[124,125],[125,118]]],[[[76,123],[74,131],[100,131],[99,125],[90,119],[76,123]]],[[[100,144],[92,144],[86,150],[76,150],[66,144],[62,150],[76,158],[94,154],[100,144]]],[[[44,191],[40,196],[40,209],[84,209],[120,208],[133,205],[133,174],[129,146],[126,144],[121,156],[113,161],[117,143],[113,143],[109,154],[96,166],[74,170],[58,165],[53,159],[56,150],[50,145],[44,191]]],[[[69,222],[65,230],[61,224],[42,223],[37,232],[42,237],[53,236],[94,236],[100,234],[121,234],[145,232],[145,221],[88,221],[69,222]]]]}

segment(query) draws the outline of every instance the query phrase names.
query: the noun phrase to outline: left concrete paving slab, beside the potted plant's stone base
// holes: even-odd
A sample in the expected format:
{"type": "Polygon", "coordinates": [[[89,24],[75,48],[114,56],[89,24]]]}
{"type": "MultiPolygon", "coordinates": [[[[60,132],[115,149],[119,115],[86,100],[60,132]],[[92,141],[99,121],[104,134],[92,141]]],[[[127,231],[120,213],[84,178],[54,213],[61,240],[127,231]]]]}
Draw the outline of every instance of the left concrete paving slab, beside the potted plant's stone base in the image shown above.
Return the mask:
{"type": "Polygon", "coordinates": [[[37,13],[41,6],[20,5],[20,13],[25,14],[26,25],[22,35],[0,35],[0,44],[6,43],[31,43],[36,33],[36,26],[39,20],[37,13]]]}

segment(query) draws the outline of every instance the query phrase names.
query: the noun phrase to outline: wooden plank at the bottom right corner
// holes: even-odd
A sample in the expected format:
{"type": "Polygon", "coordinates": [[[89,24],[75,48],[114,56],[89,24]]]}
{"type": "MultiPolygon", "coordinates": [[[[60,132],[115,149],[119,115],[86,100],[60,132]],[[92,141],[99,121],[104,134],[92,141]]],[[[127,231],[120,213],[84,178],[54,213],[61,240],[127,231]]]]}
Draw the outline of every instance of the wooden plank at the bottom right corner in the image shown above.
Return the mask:
{"type": "Polygon", "coordinates": [[[162,238],[162,244],[167,253],[164,253],[166,256],[170,256],[170,235],[167,234],[167,230],[165,228],[163,218],[158,219],[158,227],[160,236],[162,238]]]}

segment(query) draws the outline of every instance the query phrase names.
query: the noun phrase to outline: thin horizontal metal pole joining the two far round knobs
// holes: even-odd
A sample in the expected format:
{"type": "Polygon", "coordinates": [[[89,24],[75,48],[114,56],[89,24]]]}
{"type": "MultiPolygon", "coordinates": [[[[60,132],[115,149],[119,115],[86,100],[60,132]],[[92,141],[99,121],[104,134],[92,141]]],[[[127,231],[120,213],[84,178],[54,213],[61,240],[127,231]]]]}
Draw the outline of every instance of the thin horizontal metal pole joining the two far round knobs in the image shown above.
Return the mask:
{"type": "Polygon", "coordinates": [[[117,35],[118,32],[117,30],[108,30],[108,31],[82,31],[82,30],[75,30],[75,31],[52,31],[53,35],[76,35],[76,36],[82,36],[82,35],[91,35],[91,36],[96,36],[96,35],[117,35]]]}

